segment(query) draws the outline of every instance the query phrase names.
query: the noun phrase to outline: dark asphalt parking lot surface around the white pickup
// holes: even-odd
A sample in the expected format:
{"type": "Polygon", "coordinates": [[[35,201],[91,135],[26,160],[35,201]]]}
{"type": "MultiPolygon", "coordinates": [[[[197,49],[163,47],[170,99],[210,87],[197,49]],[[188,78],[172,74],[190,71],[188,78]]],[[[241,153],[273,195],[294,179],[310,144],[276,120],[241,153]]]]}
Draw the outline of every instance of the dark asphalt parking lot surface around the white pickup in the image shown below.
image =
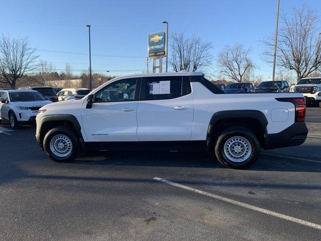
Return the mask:
{"type": "Polygon", "coordinates": [[[0,239],[321,240],[320,108],[306,124],[302,146],[262,150],[247,170],[197,153],[58,164],[33,127],[0,125],[0,239]]]}

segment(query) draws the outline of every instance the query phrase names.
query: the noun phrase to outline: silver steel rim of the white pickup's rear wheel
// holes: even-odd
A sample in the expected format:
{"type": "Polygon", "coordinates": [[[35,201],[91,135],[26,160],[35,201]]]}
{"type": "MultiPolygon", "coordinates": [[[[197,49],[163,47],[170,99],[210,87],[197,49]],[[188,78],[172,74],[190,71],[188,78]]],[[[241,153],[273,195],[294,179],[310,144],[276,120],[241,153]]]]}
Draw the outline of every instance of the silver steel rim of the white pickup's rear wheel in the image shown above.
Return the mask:
{"type": "Polygon", "coordinates": [[[232,162],[243,162],[252,154],[252,147],[244,137],[231,137],[224,144],[224,153],[232,162]]]}

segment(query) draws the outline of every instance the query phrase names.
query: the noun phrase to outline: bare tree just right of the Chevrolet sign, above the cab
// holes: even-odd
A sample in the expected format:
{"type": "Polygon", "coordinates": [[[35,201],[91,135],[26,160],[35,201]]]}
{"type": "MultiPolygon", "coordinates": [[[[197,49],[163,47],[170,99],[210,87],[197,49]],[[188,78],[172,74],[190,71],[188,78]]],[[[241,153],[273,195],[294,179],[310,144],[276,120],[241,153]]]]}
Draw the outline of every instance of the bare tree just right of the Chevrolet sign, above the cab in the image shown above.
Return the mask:
{"type": "Polygon", "coordinates": [[[187,70],[195,72],[211,65],[212,55],[210,50],[213,48],[212,43],[203,42],[198,37],[186,37],[184,33],[172,33],[170,42],[172,56],[169,63],[174,71],[187,70]]]}

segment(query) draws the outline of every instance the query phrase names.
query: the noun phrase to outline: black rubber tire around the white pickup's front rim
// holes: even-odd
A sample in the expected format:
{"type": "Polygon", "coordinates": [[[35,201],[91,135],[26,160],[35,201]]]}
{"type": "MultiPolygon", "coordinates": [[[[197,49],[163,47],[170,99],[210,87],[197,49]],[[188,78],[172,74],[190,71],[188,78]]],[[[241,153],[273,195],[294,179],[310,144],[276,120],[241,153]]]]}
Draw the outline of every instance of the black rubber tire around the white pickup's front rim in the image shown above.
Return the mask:
{"type": "MultiPolygon", "coordinates": [[[[65,141],[65,140],[63,140],[65,141]]],[[[53,140],[54,143],[54,140],[53,140]]],[[[67,145],[67,146],[68,146],[67,145]]],[[[66,126],[59,126],[56,128],[51,129],[45,136],[44,142],[43,142],[44,150],[46,154],[49,156],[49,158],[55,162],[59,163],[66,163],[66,162],[72,162],[77,154],[78,154],[78,147],[79,147],[79,138],[77,137],[76,133],[74,130],[70,127],[66,126]],[[71,142],[71,148],[70,148],[70,153],[66,156],[58,156],[54,151],[52,151],[51,148],[51,141],[53,138],[58,138],[58,137],[67,137],[69,141],[67,140],[66,143],[70,145],[71,142]]],[[[53,145],[55,146],[55,145],[53,145]]],[[[57,147],[57,146],[55,146],[57,147]]],[[[56,148],[57,150],[57,148],[56,148]]]]}

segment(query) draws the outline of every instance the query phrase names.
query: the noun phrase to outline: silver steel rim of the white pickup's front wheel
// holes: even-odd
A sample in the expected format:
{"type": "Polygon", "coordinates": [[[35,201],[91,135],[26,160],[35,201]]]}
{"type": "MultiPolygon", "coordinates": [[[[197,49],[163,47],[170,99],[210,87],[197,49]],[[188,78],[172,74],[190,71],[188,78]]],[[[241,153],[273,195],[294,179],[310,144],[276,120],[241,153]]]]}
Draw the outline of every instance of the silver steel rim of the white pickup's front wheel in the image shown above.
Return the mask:
{"type": "Polygon", "coordinates": [[[67,157],[72,151],[72,142],[63,134],[56,135],[50,141],[50,150],[58,157],[67,157]]]}

